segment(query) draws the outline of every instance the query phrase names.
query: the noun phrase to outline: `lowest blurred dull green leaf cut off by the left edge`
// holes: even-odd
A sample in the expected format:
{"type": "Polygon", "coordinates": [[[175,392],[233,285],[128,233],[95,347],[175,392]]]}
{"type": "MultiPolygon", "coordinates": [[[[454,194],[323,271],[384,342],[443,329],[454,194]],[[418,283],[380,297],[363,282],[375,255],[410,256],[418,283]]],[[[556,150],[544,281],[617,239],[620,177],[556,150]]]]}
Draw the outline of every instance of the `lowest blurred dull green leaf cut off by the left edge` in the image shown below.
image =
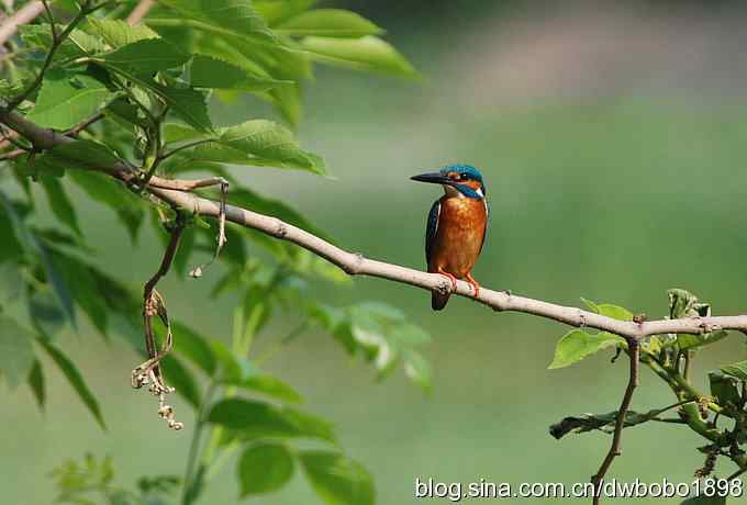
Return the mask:
{"type": "Polygon", "coordinates": [[[0,372],[10,389],[26,380],[34,364],[34,335],[0,314],[0,372]]]}

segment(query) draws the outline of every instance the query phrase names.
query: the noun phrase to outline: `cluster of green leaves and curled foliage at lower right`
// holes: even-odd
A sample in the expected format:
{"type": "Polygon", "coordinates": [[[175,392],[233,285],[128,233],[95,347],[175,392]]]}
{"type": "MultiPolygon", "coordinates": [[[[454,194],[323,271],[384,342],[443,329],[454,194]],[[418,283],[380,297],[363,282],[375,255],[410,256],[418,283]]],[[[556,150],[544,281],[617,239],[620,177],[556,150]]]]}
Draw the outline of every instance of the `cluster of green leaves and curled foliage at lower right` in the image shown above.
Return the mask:
{"type": "MultiPolygon", "coordinates": [[[[711,305],[701,302],[693,293],[682,289],[668,291],[670,318],[706,317],[711,315],[711,305]]],[[[636,321],[627,308],[607,303],[594,303],[583,300],[590,311],[621,321],[636,321]]],[[[639,319],[639,321],[643,321],[639,319]]],[[[673,423],[688,425],[709,445],[698,448],[709,454],[703,469],[695,471],[696,476],[710,476],[714,472],[717,458],[732,460],[740,469],[747,469],[747,459],[739,446],[747,440],[747,361],[739,361],[721,368],[721,371],[709,373],[710,395],[700,392],[698,383],[690,377],[692,361],[696,350],[725,338],[728,332],[705,330],[699,335],[667,334],[644,338],[640,345],[639,361],[658,375],[674,395],[676,403],[654,408],[646,413],[626,411],[622,420],[622,429],[645,423],[673,423]],[[672,416],[671,414],[676,414],[672,416]],[[715,414],[715,416],[714,416],[715,414]],[[718,423],[718,419],[722,419],[718,423]],[[732,419],[733,424],[728,420],[732,419]]],[[[631,355],[628,341],[606,332],[590,333],[587,329],[573,329],[558,341],[555,358],[549,368],[561,368],[573,364],[581,359],[603,349],[615,348],[614,362],[621,352],[631,355]]],[[[632,345],[632,344],[631,344],[632,345]]],[[[569,416],[550,426],[553,437],[560,439],[569,433],[587,433],[602,430],[613,433],[620,412],[606,414],[583,414],[569,416]]],[[[726,481],[724,481],[726,482],[726,481]]],[[[734,481],[737,482],[738,481],[734,481]]],[[[698,496],[683,504],[698,505],[725,503],[725,496],[698,496]]]]}

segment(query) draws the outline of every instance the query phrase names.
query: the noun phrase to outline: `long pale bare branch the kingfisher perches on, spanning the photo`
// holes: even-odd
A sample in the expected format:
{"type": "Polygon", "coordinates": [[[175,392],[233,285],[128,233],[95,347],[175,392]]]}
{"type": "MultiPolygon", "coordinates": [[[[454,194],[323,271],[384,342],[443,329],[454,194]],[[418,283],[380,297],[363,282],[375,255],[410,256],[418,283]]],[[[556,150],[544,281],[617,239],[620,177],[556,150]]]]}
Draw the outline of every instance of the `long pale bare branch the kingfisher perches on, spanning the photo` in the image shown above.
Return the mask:
{"type": "MultiPolygon", "coordinates": [[[[74,142],[70,137],[52,130],[42,128],[24,119],[21,114],[16,112],[8,113],[4,109],[0,109],[0,122],[7,124],[9,127],[27,138],[37,149],[51,149],[57,145],[74,142]]],[[[137,180],[141,176],[138,170],[134,169],[125,161],[119,161],[105,167],[81,168],[101,171],[127,183],[137,180]]],[[[196,181],[170,180],[154,176],[147,189],[152,194],[164,202],[189,213],[216,218],[220,217],[221,204],[219,202],[200,198],[188,192],[191,188],[194,188],[196,184],[196,181]]],[[[232,223],[254,228],[274,237],[297,244],[338,266],[352,276],[360,274],[378,277],[380,279],[410,284],[428,291],[447,292],[450,290],[450,282],[442,276],[365,258],[360,254],[341,249],[328,242],[297,226],[285,223],[277,217],[259,214],[234,205],[226,205],[225,218],[232,223]]],[[[475,299],[472,287],[465,281],[457,281],[454,293],[475,299]]],[[[557,305],[542,300],[534,300],[489,289],[481,289],[480,295],[475,300],[495,311],[522,312],[554,319],[570,326],[589,327],[610,332],[633,340],[638,340],[650,335],[669,333],[700,335],[717,329],[737,329],[747,332],[747,315],[688,317],[636,323],[633,321],[613,319],[612,317],[583,311],[578,307],[557,305]]]]}

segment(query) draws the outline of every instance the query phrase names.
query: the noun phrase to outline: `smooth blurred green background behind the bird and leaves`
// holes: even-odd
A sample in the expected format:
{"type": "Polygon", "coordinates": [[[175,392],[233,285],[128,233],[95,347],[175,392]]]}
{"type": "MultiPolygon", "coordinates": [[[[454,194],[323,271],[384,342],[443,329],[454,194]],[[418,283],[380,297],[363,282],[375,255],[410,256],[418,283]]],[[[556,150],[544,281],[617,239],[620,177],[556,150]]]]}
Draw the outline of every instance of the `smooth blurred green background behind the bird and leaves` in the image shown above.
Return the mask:
{"type": "MultiPolygon", "coordinates": [[[[299,135],[325,156],[334,179],[234,173],[292,202],[343,247],[423,267],[425,215],[439,194],[408,178],[446,162],[473,164],[492,205],[473,272],[483,285],[573,305],[584,296],[649,317],[664,316],[666,290],[680,287],[712,302],[715,313],[744,312],[747,18],[739,2],[336,3],[389,29],[424,82],[321,69],[306,91],[299,135]]],[[[249,100],[214,106],[225,124],[269,113],[249,100]]],[[[144,234],[131,246],[111,213],[76,194],[101,265],[145,280],[160,243],[144,234]]],[[[227,340],[232,305],[207,296],[218,277],[172,273],[163,292],[177,317],[227,340]]],[[[566,415],[615,409],[625,360],[611,364],[611,356],[600,355],[548,371],[555,341],[567,330],[558,324],[492,313],[464,299],[434,314],[428,293],[376,279],[316,289],[339,304],[386,299],[434,336],[430,397],[399,375],[376,383],[369,368],[322,335],[306,335],[268,364],[308,399],[310,412],[334,420],[344,447],[375,475],[378,503],[415,502],[416,478],[572,483],[597,470],[607,436],[557,441],[547,428],[566,415]]],[[[278,323],[264,338],[285,328],[278,323]]],[[[126,486],[144,474],[181,474],[189,407],[175,400],[188,427],[168,431],[154,418],[152,400],[130,388],[138,357],[129,345],[104,343],[90,327],[65,339],[109,431],[52,368],[43,414],[27,389],[3,388],[0,502],[49,503],[49,470],[87,451],[111,454],[126,486]]],[[[744,337],[734,334],[701,352],[695,371],[704,377],[745,358],[744,337]]],[[[642,385],[634,408],[672,403],[653,374],[645,372],[642,385]]],[[[610,476],[690,482],[703,463],[695,450],[702,445],[673,425],[626,430],[610,476]]],[[[232,472],[226,467],[201,503],[236,503],[232,472]]],[[[281,493],[253,502],[316,498],[297,475],[281,493]]],[[[648,502],[667,501],[638,503],[648,502]]]]}

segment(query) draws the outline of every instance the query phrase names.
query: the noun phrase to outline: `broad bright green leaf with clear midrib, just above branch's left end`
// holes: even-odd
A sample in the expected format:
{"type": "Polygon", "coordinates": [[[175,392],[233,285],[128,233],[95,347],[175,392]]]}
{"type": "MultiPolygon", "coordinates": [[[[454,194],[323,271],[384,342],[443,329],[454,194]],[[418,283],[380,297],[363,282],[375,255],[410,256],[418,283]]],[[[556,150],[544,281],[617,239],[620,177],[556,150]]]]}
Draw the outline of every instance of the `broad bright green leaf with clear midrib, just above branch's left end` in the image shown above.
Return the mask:
{"type": "Polygon", "coordinates": [[[55,130],[69,130],[96,114],[112,92],[86,74],[49,70],[44,75],[30,121],[55,130]]]}

